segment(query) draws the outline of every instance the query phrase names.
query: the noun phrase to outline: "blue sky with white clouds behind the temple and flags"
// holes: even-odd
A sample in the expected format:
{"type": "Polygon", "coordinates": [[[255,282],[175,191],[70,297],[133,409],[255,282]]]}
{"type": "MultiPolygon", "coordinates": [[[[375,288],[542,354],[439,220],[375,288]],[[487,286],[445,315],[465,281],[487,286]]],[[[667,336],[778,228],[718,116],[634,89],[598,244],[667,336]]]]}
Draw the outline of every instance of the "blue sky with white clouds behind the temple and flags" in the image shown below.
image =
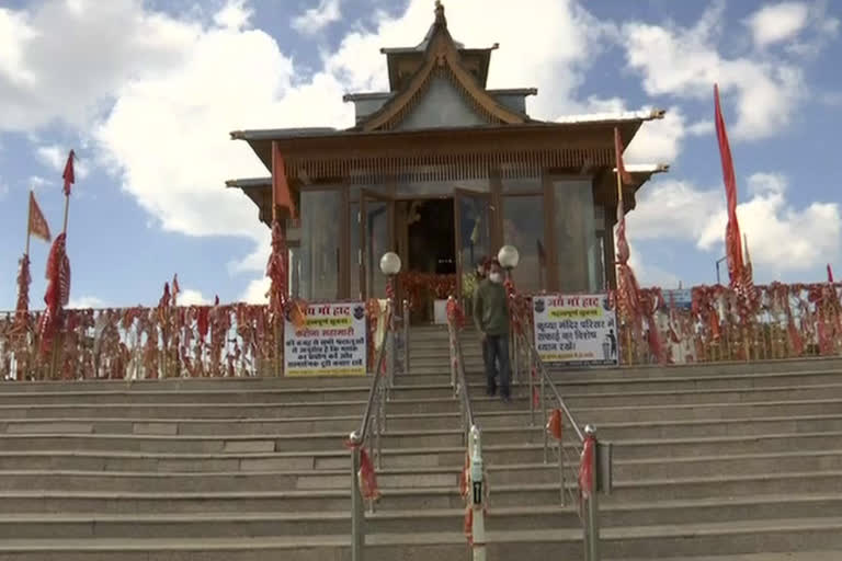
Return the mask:
{"type": "MultiPolygon", "coordinates": [[[[490,85],[537,87],[537,118],[668,110],[628,161],[668,162],[629,216],[642,284],[710,283],[724,193],[720,83],[759,282],[842,267],[842,5],[833,1],[445,1],[453,35],[499,42],[490,85]]],[[[350,126],[386,85],[383,46],[417,44],[432,0],[0,0],[0,309],[15,299],[31,186],[54,232],[76,148],[75,305],[259,300],[269,231],[226,179],[265,174],[237,128],[350,126]]],[[[33,304],[48,247],[33,241],[33,304]]],[[[842,271],[842,268],[840,268],[842,271]]],[[[842,273],[840,273],[842,274],[842,273]]]]}

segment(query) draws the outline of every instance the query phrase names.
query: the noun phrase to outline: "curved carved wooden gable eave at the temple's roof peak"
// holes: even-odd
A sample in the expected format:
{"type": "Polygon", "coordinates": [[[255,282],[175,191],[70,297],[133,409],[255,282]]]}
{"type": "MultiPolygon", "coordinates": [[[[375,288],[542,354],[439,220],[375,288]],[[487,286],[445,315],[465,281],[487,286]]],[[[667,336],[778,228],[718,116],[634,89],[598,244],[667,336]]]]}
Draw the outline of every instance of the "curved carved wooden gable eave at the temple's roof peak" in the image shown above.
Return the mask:
{"type": "Polygon", "coordinates": [[[389,100],[383,107],[368,115],[352,130],[390,130],[400,124],[426,93],[436,77],[448,79],[473,106],[491,125],[528,123],[525,114],[501,105],[493,96],[477,83],[476,79],[462,65],[462,55],[447,31],[444,8],[436,5],[436,19],[432,35],[424,51],[424,64],[416,71],[407,87],[389,100]]]}

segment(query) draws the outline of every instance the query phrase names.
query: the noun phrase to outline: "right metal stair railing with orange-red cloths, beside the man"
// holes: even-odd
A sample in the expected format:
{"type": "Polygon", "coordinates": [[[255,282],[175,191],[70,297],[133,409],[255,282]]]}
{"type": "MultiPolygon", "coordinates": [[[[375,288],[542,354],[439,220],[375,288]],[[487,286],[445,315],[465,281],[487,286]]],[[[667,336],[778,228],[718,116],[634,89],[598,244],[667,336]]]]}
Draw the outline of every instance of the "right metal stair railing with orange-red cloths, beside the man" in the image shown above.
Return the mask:
{"type": "MultiPolygon", "coordinates": [[[[517,297],[513,297],[512,309],[519,310],[514,304],[517,297]]],[[[528,307],[525,308],[528,310],[528,307]]],[[[544,462],[548,463],[550,451],[555,451],[555,460],[558,463],[559,500],[562,506],[579,503],[579,517],[582,522],[584,538],[585,561],[599,561],[600,559],[600,508],[599,492],[611,492],[612,448],[610,443],[600,443],[596,439],[596,428],[587,425],[584,431],[565,403],[553,377],[547,371],[546,365],[541,359],[537,348],[531,336],[531,321],[515,312],[514,340],[515,348],[523,350],[525,355],[525,375],[530,388],[530,423],[535,426],[536,408],[541,408],[541,419],[546,420],[544,431],[544,462]],[[553,411],[548,414],[547,402],[554,403],[553,411]],[[537,403],[536,403],[537,402],[537,403]],[[576,455],[571,457],[565,445],[566,427],[571,427],[576,438],[572,448],[576,455]],[[550,446],[553,436],[556,446],[550,446]],[[578,481],[573,485],[567,484],[565,473],[566,466],[578,467],[578,481]],[[577,492],[578,491],[578,492],[577,492]]]]}

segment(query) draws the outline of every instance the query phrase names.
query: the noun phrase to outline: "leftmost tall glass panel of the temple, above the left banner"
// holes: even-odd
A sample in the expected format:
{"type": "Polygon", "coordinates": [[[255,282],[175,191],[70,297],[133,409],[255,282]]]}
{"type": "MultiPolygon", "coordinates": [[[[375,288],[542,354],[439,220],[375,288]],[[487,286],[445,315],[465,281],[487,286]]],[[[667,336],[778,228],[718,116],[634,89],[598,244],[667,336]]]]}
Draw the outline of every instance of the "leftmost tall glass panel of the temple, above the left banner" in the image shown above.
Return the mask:
{"type": "Polygon", "coordinates": [[[340,191],[301,192],[301,298],[333,300],[339,297],[342,211],[340,191]]]}

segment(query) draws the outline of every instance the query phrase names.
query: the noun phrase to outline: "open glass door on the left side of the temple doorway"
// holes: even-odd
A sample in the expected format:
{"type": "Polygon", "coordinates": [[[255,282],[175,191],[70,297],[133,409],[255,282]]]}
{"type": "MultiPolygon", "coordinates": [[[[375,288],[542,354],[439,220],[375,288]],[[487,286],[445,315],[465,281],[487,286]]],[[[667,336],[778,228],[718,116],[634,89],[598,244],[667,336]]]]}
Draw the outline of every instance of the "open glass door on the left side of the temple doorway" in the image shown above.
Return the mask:
{"type": "Polygon", "coordinates": [[[360,293],[364,299],[386,297],[380,257],[394,248],[395,202],[362,190],[360,193],[360,293]]]}

